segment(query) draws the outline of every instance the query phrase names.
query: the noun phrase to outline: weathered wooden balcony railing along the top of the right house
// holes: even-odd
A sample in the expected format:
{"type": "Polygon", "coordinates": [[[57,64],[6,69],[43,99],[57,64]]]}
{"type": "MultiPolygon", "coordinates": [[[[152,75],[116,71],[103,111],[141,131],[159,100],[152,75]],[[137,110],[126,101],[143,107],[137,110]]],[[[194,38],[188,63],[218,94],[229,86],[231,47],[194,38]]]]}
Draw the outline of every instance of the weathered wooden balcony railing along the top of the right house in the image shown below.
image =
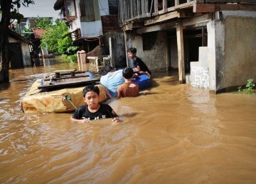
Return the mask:
{"type": "Polygon", "coordinates": [[[232,9],[230,9],[230,6],[236,5],[238,8],[234,9],[240,10],[241,8],[239,7],[241,5],[253,4],[256,6],[256,0],[119,0],[119,22],[122,25],[126,25],[127,23],[149,19],[152,16],[186,10],[188,8],[192,9],[191,12],[195,13],[196,5],[198,4],[208,5],[206,10],[203,10],[201,6],[202,12],[212,12],[218,11],[217,8],[214,8],[214,4],[228,4],[228,10],[232,9]]]}

